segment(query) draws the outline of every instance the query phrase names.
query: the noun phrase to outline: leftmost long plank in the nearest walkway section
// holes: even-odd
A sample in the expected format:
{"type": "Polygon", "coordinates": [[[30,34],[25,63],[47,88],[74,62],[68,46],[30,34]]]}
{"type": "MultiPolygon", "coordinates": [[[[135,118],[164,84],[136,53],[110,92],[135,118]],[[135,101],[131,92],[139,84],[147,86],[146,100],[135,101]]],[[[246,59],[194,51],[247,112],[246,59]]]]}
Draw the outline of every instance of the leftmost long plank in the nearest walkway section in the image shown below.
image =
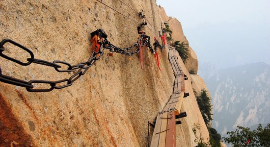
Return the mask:
{"type": "Polygon", "coordinates": [[[151,146],[150,147],[159,147],[159,141],[160,141],[160,133],[161,132],[161,125],[162,125],[162,119],[161,117],[163,117],[162,114],[159,114],[157,116],[157,121],[155,124],[155,128],[154,128],[154,132],[153,132],[153,136],[152,136],[152,141],[151,141],[151,146]],[[158,133],[158,134],[156,134],[158,133]]]}

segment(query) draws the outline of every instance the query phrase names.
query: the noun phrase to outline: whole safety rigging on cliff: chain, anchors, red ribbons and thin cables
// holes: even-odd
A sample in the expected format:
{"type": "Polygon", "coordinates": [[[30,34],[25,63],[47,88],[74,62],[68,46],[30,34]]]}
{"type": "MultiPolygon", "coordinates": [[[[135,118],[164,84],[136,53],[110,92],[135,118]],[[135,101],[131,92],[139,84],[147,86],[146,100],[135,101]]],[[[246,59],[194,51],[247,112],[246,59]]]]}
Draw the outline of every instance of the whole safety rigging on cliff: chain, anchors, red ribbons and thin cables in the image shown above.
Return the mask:
{"type": "MultiPolygon", "coordinates": [[[[104,2],[102,2],[100,0],[97,0],[97,1],[105,4],[104,2]]],[[[107,4],[105,4],[105,5],[108,6],[107,4]]],[[[114,8],[112,8],[110,6],[108,6],[108,7],[113,9],[114,11],[122,14],[121,12],[117,11],[116,9],[114,9],[114,8]]],[[[124,14],[122,14],[122,15],[129,18],[129,19],[131,19],[131,20],[133,20],[133,21],[135,21],[135,19],[132,19],[132,18],[130,18],[130,17],[124,15],[124,14]]],[[[101,56],[103,55],[105,49],[109,49],[109,51],[110,51],[109,56],[112,56],[113,52],[129,55],[129,56],[132,56],[135,53],[139,53],[140,62],[141,62],[141,68],[143,69],[143,56],[142,56],[143,51],[142,51],[142,47],[144,47],[144,46],[148,47],[149,50],[155,55],[155,58],[157,58],[157,63],[158,63],[159,69],[161,70],[160,64],[159,64],[158,52],[157,52],[157,48],[158,47],[161,48],[161,46],[160,46],[159,42],[157,42],[157,40],[155,40],[155,43],[153,44],[154,49],[152,48],[152,46],[150,44],[150,36],[147,36],[146,33],[141,30],[141,26],[143,26],[143,25],[147,26],[147,23],[146,23],[147,18],[143,14],[143,10],[141,12],[138,12],[138,15],[143,20],[143,22],[140,23],[138,21],[135,21],[135,22],[140,24],[140,26],[138,26],[138,28],[137,28],[138,33],[139,33],[139,37],[138,37],[138,41],[136,41],[131,47],[121,49],[121,48],[118,48],[118,47],[114,46],[113,44],[111,44],[107,40],[108,35],[105,33],[105,31],[103,29],[97,29],[96,31],[91,33],[91,37],[92,37],[91,40],[90,40],[90,43],[92,44],[92,47],[91,47],[92,54],[91,54],[91,56],[89,57],[89,59],[86,62],[81,62],[81,63],[75,64],[75,65],[71,65],[71,64],[69,64],[69,63],[67,63],[65,61],[60,61],[60,60],[54,60],[53,62],[49,62],[49,61],[45,61],[45,60],[41,60],[41,59],[36,59],[36,58],[34,58],[34,54],[33,54],[33,52],[31,50],[27,49],[26,47],[14,42],[14,41],[12,41],[10,39],[4,39],[4,40],[2,40],[0,42],[0,56],[1,57],[5,58],[5,59],[8,59],[10,61],[13,61],[15,63],[18,63],[18,64],[20,64],[22,66],[28,66],[31,63],[36,63],[36,64],[41,64],[41,65],[53,67],[57,72],[60,72],[60,73],[62,73],[62,72],[71,73],[72,72],[74,74],[72,76],[70,76],[68,79],[62,79],[62,80],[58,80],[58,81],[30,80],[30,81],[27,82],[27,81],[24,81],[24,80],[21,80],[21,79],[17,79],[17,78],[2,74],[2,71],[1,71],[1,68],[0,68],[0,81],[4,82],[4,83],[12,84],[12,85],[26,87],[28,92],[50,92],[50,91],[52,91],[54,89],[62,89],[62,88],[71,86],[73,84],[73,82],[75,82],[77,79],[79,79],[81,77],[81,75],[85,74],[86,71],[91,66],[93,66],[93,64],[96,62],[96,60],[99,60],[101,58],[101,56]],[[6,43],[13,44],[14,46],[17,46],[20,49],[25,50],[29,54],[29,58],[27,58],[27,62],[23,62],[23,61],[20,61],[20,60],[17,60],[15,58],[12,58],[10,56],[5,55],[3,53],[3,51],[5,50],[5,48],[3,46],[6,43]],[[68,68],[63,69],[63,68],[61,68],[61,65],[67,66],[68,68]],[[36,88],[33,85],[34,83],[49,85],[50,88],[48,88],[48,89],[39,89],[39,88],[36,88]]],[[[150,27],[149,27],[149,29],[150,29],[150,27]]]]}

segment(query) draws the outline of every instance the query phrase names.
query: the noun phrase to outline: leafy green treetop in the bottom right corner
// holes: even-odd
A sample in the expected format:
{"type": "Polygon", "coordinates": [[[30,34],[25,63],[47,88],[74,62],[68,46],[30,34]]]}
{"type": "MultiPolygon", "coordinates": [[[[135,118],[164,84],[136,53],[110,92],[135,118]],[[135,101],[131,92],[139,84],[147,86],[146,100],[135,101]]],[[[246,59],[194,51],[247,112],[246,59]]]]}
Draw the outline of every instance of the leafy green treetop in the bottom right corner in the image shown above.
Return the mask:
{"type": "Polygon", "coordinates": [[[237,126],[235,131],[227,132],[227,135],[229,137],[223,137],[224,141],[234,147],[270,147],[270,123],[265,128],[259,124],[253,131],[249,127],[237,126]]]}

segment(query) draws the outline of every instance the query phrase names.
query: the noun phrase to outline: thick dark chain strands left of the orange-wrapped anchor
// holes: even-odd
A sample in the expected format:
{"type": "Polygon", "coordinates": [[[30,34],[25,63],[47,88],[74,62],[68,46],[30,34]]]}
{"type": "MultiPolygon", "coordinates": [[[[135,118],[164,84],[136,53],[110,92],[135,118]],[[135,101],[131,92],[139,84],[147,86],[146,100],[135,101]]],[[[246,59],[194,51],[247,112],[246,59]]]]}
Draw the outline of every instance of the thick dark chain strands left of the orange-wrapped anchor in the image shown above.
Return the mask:
{"type": "Polygon", "coordinates": [[[73,82],[75,82],[78,78],[81,77],[81,75],[86,73],[86,71],[91,66],[93,66],[93,64],[95,63],[96,60],[99,60],[101,58],[101,56],[104,53],[104,48],[103,47],[101,47],[101,48],[102,49],[100,49],[98,52],[92,51],[92,54],[91,54],[91,56],[90,56],[90,58],[88,59],[87,62],[79,63],[79,64],[76,64],[76,65],[71,65],[71,64],[69,64],[69,63],[67,63],[65,61],[54,60],[53,62],[49,62],[49,61],[45,61],[45,60],[41,60],[41,59],[36,59],[36,58],[34,58],[34,54],[32,53],[32,51],[30,51],[29,49],[25,48],[24,46],[14,42],[14,41],[12,41],[10,39],[4,39],[4,40],[2,40],[0,42],[0,56],[1,57],[5,58],[5,59],[8,59],[10,61],[13,61],[15,63],[18,63],[20,65],[23,65],[23,66],[28,66],[31,63],[36,63],[36,64],[41,64],[41,65],[45,65],[45,66],[49,66],[49,67],[54,67],[54,69],[57,72],[68,72],[68,73],[70,73],[70,72],[74,71],[74,74],[69,79],[62,79],[62,80],[58,80],[58,81],[30,80],[30,81],[27,82],[27,81],[24,81],[24,80],[21,80],[21,79],[17,79],[17,78],[2,74],[2,70],[0,68],[0,81],[2,81],[4,83],[12,84],[12,85],[26,87],[28,92],[49,92],[49,91],[52,91],[54,89],[62,89],[62,88],[71,86],[73,84],[73,82]],[[30,54],[31,58],[27,58],[28,62],[23,62],[23,61],[14,59],[12,57],[9,57],[9,56],[3,54],[3,51],[5,50],[3,45],[6,44],[6,43],[11,43],[14,46],[19,47],[20,49],[26,50],[30,54]],[[61,69],[61,65],[66,65],[66,66],[68,66],[68,68],[67,69],[61,69]],[[38,84],[41,84],[41,85],[49,85],[50,88],[48,88],[48,89],[35,88],[35,86],[33,85],[35,83],[38,83],[38,84]],[[63,84],[63,83],[65,83],[65,84],[63,84]]]}

